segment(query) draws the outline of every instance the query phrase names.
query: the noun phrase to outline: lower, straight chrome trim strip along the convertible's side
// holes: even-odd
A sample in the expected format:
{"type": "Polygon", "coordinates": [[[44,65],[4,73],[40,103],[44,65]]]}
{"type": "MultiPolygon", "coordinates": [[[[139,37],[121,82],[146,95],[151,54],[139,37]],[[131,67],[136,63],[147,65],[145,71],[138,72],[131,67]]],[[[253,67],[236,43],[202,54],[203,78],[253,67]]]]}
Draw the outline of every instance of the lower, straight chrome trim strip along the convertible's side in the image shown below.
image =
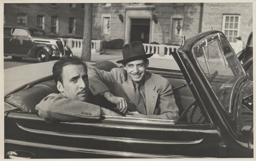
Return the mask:
{"type": "Polygon", "coordinates": [[[18,144],[23,146],[32,146],[37,148],[48,148],[56,150],[66,150],[74,151],[80,153],[92,153],[99,155],[113,155],[113,156],[122,156],[122,157],[140,157],[140,158],[198,158],[191,156],[181,156],[181,155],[157,155],[157,154],[147,154],[147,153],[132,153],[132,152],[122,152],[122,151],[112,151],[112,150],[99,150],[99,149],[88,149],[88,148],[76,148],[76,147],[67,147],[59,145],[48,145],[35,142],[25,142],[19,140],[10,140],[5,139],[4,143],[7,144],[18,144]]]}

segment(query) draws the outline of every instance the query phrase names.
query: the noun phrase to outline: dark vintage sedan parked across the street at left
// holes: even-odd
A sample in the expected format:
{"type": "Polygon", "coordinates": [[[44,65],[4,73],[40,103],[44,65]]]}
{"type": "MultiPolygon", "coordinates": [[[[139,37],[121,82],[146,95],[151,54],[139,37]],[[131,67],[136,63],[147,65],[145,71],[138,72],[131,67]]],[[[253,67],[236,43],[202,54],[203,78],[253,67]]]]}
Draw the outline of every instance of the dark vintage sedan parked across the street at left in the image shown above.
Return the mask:
{"type": "Polygon", "coordinates": [[[73,55],[63,40],[48,38],[43,30],[34,27],[4,26],[4,56],[11,56],[14,61],[37,58],[41,63],[62,55],[73,55]]]}

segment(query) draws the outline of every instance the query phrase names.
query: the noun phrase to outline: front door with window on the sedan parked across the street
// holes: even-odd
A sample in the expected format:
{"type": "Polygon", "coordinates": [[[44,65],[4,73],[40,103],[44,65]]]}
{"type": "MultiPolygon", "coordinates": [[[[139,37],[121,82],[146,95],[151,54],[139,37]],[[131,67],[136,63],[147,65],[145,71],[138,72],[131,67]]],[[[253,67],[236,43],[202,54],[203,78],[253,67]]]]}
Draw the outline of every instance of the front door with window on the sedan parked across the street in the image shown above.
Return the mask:
{"type": "Polygon", "coordinates": [[[11,46],[13,53],[19,55],[27,55],[28,51],[34,46],[28,31],[24,28],[12,29],[11,46]]]}

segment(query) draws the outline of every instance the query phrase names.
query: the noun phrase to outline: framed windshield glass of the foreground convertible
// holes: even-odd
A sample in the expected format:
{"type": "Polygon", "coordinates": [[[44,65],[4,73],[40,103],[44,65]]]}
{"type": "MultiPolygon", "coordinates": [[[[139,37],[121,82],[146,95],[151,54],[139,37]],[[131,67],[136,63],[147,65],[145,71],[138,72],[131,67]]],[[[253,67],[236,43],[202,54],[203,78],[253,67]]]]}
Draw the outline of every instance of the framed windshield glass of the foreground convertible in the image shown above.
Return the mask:
{"type": "Polygon", "coordinates": [[[230,113],[233,87],[239,82],[239,78],[245,75],[232,48],[224,36],[218,33],[200,40],[192,49],[211,89],[230,113]]]}

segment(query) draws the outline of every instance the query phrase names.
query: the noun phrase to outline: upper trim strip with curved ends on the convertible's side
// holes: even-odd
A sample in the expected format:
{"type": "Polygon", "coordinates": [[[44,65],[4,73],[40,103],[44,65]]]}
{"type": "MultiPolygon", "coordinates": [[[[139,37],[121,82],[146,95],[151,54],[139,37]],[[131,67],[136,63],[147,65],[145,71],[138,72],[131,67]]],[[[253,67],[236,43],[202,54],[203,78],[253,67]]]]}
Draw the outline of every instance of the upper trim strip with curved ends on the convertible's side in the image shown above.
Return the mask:
{"type": "Polygon", "coordinates": [[[127,142],[127,143],[140,143],[140,144],[165,144],[165,145],[173,145],[173,144],[198,144],[204,140],[204,138],[200,140],[194,141],[166,141],[166,140],[148,140],[148,139],[135,139],[135,138],[121,138],[121,137],[111,137],[111,136],[95,136],[95,135],[84,135],[84,134],[72,134],[72,133],[61,133],[54,131],[45,131],[45,130],[37,130],[37,129],[29,129],[23,127],[17,123],[17,126],[24,131],[28,131],[31,133],[40,133],[52,136],[63,136],[69,138],[87,138],[93,140],[103,140],[103,141],[114,141],[114,142],[127,142]]]}

